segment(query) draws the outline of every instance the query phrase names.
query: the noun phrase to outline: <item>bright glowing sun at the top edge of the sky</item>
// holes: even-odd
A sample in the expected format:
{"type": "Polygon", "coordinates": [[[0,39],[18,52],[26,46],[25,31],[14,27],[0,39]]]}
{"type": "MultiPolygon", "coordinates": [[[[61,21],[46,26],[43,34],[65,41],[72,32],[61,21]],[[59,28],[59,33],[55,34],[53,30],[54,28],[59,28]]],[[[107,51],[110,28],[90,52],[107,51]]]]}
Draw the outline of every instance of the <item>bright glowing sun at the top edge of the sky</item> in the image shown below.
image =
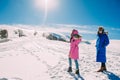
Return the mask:
{"type": "Polygon", "coordinates": [[[34,0],[37,9],[51,11],[58,7],[58,0],[34,0]]]}

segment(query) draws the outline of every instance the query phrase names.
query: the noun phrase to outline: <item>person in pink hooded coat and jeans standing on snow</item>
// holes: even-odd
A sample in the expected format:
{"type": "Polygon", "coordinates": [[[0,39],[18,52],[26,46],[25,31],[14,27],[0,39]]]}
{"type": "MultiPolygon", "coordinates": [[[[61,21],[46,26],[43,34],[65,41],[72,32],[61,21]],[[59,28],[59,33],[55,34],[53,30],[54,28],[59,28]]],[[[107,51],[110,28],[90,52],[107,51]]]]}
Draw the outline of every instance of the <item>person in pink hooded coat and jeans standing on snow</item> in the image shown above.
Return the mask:
{"type": "Polygon", "coordinates": [[[72,60],[74,59],[76,65],[76,74],[79,74],[79,47],[78,44],[81,42],[81,36],[78,34],[78,31],[73,29],[70,39],[70,52],[69,52],[69,68],[68,72],[72,72],[72,60]]]}

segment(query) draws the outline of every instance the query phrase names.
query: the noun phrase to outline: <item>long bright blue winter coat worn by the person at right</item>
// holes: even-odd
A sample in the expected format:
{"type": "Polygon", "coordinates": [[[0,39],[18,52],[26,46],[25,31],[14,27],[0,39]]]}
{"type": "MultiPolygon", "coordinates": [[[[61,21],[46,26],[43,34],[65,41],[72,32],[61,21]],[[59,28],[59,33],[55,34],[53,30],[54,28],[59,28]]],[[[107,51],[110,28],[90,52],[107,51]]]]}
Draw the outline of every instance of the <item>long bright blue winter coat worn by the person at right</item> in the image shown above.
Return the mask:
{"type": "Polygon", "coordinates": [[[97,62],[106,62],[106,46],[109,44],[109,38],[106,33],[98,34],[96,41],[97,62]]]}

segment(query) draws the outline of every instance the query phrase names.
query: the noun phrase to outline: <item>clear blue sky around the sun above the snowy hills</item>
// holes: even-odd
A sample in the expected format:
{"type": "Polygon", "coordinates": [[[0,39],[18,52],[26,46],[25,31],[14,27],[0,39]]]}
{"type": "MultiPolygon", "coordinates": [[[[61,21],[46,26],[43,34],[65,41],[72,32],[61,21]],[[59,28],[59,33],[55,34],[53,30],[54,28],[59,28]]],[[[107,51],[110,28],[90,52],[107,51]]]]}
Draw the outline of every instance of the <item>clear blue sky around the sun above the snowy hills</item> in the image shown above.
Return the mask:
{"type": "MultiPolygon", "coordinates": [[[[44,12],[32,1],[0,0],[0,24],[42,24],[44,12]]],[[[120,0],[59,0],[57,10],[48,12],[46,24],[120,27],[120,0]]]]}

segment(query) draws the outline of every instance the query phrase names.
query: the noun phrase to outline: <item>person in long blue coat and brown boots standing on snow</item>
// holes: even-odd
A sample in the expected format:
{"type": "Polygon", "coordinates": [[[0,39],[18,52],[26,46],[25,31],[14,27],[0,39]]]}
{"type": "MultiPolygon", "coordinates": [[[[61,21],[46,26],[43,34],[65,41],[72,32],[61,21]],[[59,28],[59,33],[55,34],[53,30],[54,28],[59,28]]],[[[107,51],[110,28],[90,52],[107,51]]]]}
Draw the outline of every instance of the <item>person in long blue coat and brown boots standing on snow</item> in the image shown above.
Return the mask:
{"type": "Polygon", "coordinates": [[[98,28],[98,39],[96,41],[96,62],[101,62],[101,68],[97,72],[106,71],[106,46],[109,44],[109,38],[103,27],[98,28]]]}

